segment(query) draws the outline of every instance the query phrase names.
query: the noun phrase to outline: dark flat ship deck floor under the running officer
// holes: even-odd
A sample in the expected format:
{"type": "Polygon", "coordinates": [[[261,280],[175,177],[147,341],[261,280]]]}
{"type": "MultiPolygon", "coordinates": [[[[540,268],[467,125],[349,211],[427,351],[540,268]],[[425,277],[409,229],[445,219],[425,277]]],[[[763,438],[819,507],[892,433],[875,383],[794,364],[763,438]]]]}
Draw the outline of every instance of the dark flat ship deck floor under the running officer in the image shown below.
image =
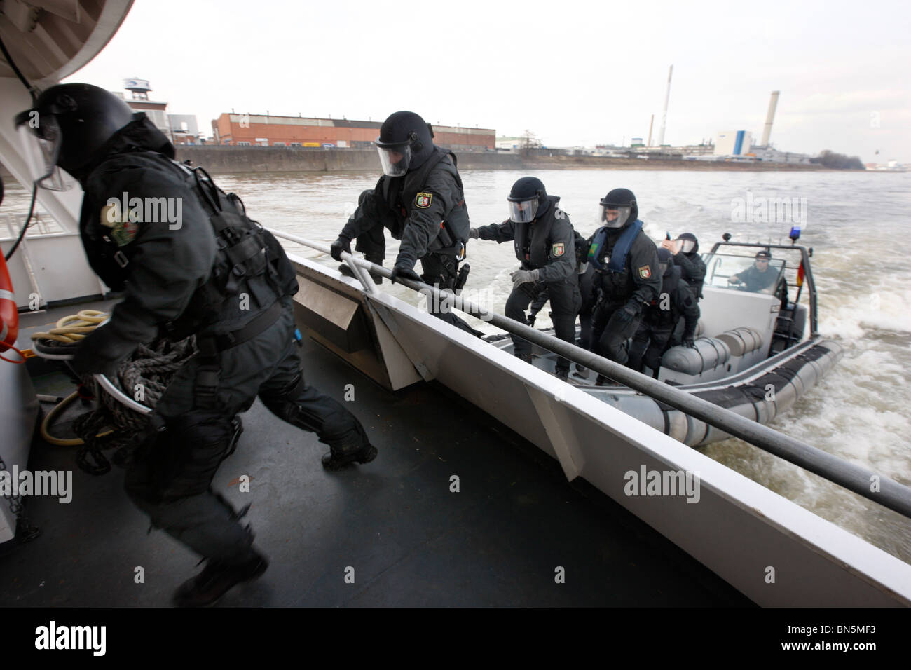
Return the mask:
{"type": "MultiPolygon", "coordinates": [[[[75,312],[24,314],[20,343],[75,312]]],[[[584,480],[567,482],[556,460],[445,387],[421,383],[393,394],[310,340],[301,355],[305,377],[322,392],[342,401],[344,385],[354,385],[346,406],[379,456],[326,472],[326,447],[257,401],[212,487],[235,507],[252,503],[244,521],[271,566],[220,606],[752,605],[584,480]],[[249,493],[236,483],[244,474],[249,493]],[[453,475],[458,492],[450,490],[453,475]],[[350,568],[353,583],[345,581],[350,568]],[[555,579],[558,568],[565,582],[555,579]]],[[[72,390],[46,361],[37,363],[30,369],[39,394],[72,390]]],[[[43,403],[45,412],[50,407],[43,403]]],[[[66,433],[73,414],[56,433],[66,433]]],[[[123,491],[122,469],[88,475],[76,468],[75,449],[49,445],[36,431],[29,468],[72,470],[73,499],[27,500],[42,532],[0,545],[0,605],[168,605],[200,570],[200,557],[149,531],[123,491]],[[134,579],[140,566],[143,583],[134,579]]]]}

